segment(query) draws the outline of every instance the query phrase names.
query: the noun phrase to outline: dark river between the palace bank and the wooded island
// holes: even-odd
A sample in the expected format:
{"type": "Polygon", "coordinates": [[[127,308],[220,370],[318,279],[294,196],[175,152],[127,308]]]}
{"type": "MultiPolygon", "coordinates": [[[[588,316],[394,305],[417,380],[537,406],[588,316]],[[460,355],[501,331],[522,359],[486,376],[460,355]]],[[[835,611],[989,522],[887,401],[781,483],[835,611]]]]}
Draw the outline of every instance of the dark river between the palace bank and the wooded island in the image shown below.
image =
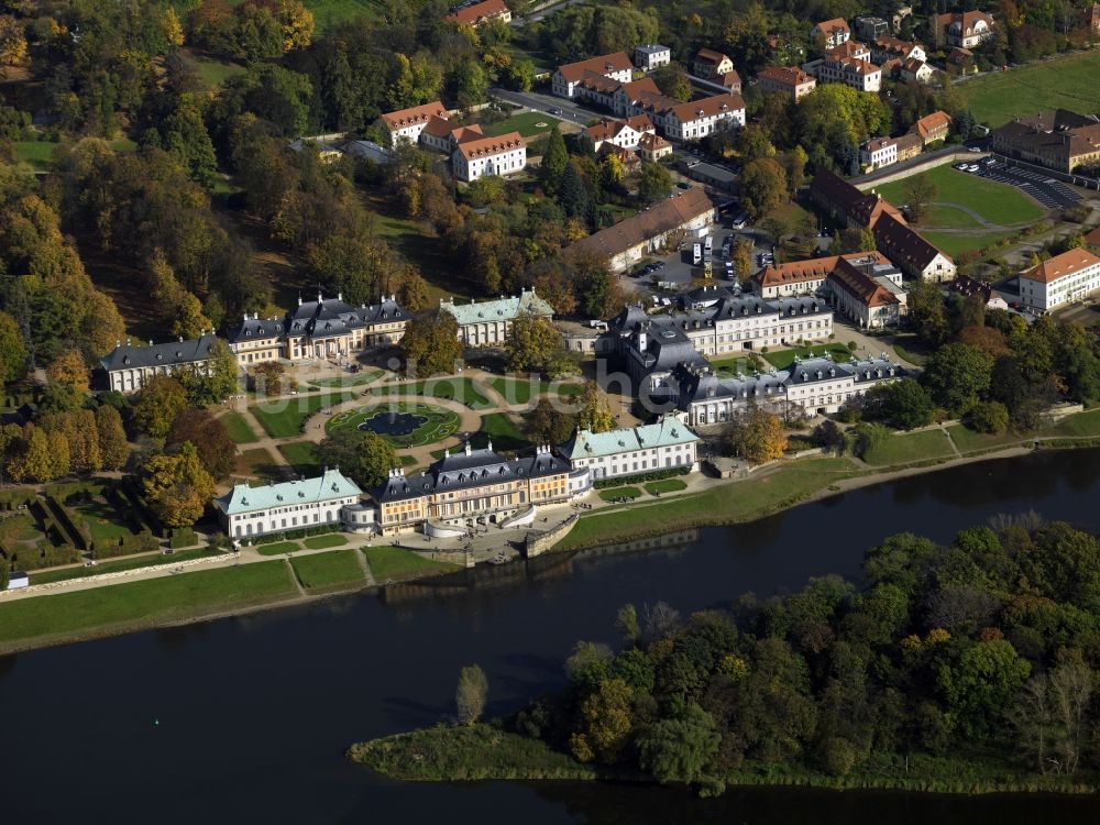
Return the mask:
{"type": "MultiPolygon", "coordinates": [[[[730,488],[736,495],[736,487],[730,488]]],[[[1042,452],[866,487],[751,525],[461,574],[304,607],[0,658],[9,822],[1092,823],[1094,800],[612,784],[406,784],[348,763],[353,740],[431,725],[463,664],[488,713],[563,681],[579,638],[613,640],[619,605],[681,613],[807,576],[858,576],[862,551],[912,530],[946,540],[1034,508],[1100,530],[1100,451],[1042,452]]]]}

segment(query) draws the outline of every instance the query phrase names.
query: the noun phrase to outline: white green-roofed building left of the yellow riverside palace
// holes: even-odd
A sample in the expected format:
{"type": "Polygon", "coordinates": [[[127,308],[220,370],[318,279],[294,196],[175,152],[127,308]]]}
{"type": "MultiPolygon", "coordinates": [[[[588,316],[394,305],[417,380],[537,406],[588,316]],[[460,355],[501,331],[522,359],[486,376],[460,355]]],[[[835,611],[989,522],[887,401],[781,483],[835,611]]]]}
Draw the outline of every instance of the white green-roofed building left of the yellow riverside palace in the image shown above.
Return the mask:
{"type": "Polygon", "coordinates": [[[362,491],[339,470],[316,479],[252,487],[235,484],[216,498],[226,535],[234,540],[284,530],[355,522],[362,529],[362,491]],[[346,515],[344,510],[346,512],[346,515]]]}

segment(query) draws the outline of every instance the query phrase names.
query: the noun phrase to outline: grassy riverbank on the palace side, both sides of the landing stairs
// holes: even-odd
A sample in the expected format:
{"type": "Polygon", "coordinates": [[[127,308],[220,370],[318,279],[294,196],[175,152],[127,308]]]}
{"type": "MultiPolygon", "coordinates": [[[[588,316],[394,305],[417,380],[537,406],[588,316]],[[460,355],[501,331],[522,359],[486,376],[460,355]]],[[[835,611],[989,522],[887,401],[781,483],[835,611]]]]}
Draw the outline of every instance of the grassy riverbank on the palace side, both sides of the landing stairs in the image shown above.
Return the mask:
{"type": "MultiPolygon", "coordinates": [[[[1038,444],[1044,449],[1094,447],[1097,435],[1092,432],[1092,428],[1100,416],[1096,410],[1078,415],[1088,417],[1087,435],[1050,435],[1038,439],[1030,438],[1026,443],[1038,444]]],[[[602,547],[685,528],[748,524],[862,487],[978,462],[1022,457],[1034,451],[1032,447],[1023,447],[1022,443],[898,468],[870,468],[850,458],[811,458],[785,462],[759,476],[716,483],[703,493],[672,495],[586,512],[551,552],[602,547]]],[[[293,571],[287,571],[274,592],[264,587],[253,592],[234,588],[233,571],[246,566],[258,568],[265,563],[284,562],[242,564],[240,568],[204,570],[75,593],[0,602],[0,654],[290,607],[333,595],[374,593],[385,586],[380,587],[364,581],[344,588],[326,591],[323,594],[309,594],[296,586],[293,571]],[[194,576],[206,579],[201,580],[201,584],[195,582],[194,590],[175,584],[194,576]],[[217,584],[211,586],[213,582],[217,584]],[[123,588],[121,593],[119,587],[123,588]],[[228,596],[224,595],[227,590],[228,596]],[[110,593],[114,597],[103,595],[110,593]],[[41,604],[43,602],[47,602],[48,606],[41,604]],[[34,603],[40,604],[35,606],[34,603]],[[120,617],[120,613],[124,615],[120,617]]],[[[403,581],[433,579],[439,575],[438,570],[428,570],[422,575],[413,573],[403,581]]]]}

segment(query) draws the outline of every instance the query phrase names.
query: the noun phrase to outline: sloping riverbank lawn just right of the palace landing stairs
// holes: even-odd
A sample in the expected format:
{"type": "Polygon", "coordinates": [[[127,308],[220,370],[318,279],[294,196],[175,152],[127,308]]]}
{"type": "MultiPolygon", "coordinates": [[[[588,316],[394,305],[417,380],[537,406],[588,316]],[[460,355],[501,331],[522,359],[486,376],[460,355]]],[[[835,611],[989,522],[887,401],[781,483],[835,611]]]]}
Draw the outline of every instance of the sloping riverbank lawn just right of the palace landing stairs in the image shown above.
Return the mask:
{"type": "Polygon", "coordinates": [[[668,531],[669,525],[703,527],[759,518],[859,474],[847,459],[806,459],[740,484],[584,513],[558,547],[572,550],[651,536],[668,531]]]}

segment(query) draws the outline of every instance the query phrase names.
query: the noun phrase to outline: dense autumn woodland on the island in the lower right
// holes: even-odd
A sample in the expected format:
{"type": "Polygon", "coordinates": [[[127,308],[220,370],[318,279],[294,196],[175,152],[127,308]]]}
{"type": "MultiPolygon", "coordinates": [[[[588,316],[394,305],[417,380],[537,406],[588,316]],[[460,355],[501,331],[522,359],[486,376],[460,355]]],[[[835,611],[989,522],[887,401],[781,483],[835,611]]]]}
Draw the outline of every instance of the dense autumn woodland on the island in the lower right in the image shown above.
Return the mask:
{"type": "Polygon", "coordinates": [[[663,603],[626,605],[617,650],[579,642],[565,661],[568,688],[495,722],[496,734],[473,724],[479,694],[464,671],[462,718],[437,729],[438,751],[425,732],[353,756],[397,776],[472,778],[479,762],[494,763],[496,741],[517,758],[498,776],[522,778],[530,766],[531,777],[652,777],[705,793],[815,778],[928,790],[1092,787],[1097,537],[1035,514],[998,517],[943,546],[892,536],[867,551],[862,573],[858,585],[822,576],[686,618],[663,603]],[[479,737],[483,752],[455,756],[452,744],[471,748],[479,737]],[[549,749],[532,758],[536,740],[549,749]]]}

